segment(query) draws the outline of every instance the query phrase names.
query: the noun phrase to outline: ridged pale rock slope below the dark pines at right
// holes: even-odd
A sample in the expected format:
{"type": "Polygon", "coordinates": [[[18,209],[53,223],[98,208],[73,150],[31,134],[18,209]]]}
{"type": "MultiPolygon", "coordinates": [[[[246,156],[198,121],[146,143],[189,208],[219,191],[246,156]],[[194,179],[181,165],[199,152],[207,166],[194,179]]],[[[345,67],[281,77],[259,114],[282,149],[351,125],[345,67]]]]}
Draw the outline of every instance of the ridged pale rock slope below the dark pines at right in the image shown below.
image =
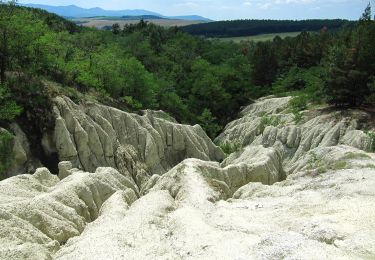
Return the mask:
{"type": "Polygon", "coordinates": [[[317,147],[352,146],[370,151],[371,138],[358,130],[359,121],[370,117],[365,112],[326,112],[304,116],[296,123],[288,111],[289,97],[264,99],[251,104],[242,117],[228,124],[216,139],[218,143],[238,144],[257,150],[258,146],[272,147],[280,155],[286,174],[290,167],[317,147]]]}

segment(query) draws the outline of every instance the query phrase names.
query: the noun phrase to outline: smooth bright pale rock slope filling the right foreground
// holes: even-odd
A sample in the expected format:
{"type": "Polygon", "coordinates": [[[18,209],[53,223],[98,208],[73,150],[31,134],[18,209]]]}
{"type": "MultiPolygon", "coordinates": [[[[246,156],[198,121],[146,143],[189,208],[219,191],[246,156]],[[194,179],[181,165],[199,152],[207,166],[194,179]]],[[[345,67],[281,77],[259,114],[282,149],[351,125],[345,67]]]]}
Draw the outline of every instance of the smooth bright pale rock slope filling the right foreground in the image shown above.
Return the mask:
{"type": "Polygon", "coordinates": [[[353,169],[291,174],[273,186],[244,182],[233,197],[230,178],[212,170],[217,163],[186,160],[130,207],[114,195],[116,213],[103,210],[55,258],[372,259],[374,155],[349,149],[372,166],[359,157],[353,169]]]}

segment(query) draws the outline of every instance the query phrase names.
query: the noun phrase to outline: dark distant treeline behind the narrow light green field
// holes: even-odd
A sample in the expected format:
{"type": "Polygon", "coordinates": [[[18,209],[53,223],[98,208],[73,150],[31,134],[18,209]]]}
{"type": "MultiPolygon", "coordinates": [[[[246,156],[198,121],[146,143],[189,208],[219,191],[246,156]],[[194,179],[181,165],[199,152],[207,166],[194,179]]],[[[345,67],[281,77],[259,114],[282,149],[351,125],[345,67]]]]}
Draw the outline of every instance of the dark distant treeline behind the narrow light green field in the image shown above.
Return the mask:
{"type": "Polygon", "coordinates": [[[318,32],[322,28],[336,31],[350,26],[348,20],[234,20],[210,23],[192,24],[182,29],[192,35],[205,37],[239,37],[253,36],[266,33],[283,32],[318,32]]]}

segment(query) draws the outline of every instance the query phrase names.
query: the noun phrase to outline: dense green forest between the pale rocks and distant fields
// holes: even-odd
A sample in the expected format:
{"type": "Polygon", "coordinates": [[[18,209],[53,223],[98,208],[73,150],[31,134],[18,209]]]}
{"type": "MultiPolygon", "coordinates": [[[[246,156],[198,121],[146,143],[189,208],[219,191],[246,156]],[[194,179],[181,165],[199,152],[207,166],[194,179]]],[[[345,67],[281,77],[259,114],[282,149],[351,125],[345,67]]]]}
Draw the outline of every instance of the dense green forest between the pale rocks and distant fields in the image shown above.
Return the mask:
{"type": "MultiPolygon", "coordinates": [[[[370,8],[370,7],[369,7],[370,8]]],[[[322,24],[320,24],[321,27],[322,24]]],[[[336,106],[375,104],[375,22],[321,28],[268,42],[205,40],[141,21],[82,28],[47,12],[0,5],[0,121],[51,127],[56,89],[130,110],[162,109],[211,137],[241,106],[263,95],[300,96],[336,106]]],[[[36,131],[36,130],[35,130],[36,131]]]]}

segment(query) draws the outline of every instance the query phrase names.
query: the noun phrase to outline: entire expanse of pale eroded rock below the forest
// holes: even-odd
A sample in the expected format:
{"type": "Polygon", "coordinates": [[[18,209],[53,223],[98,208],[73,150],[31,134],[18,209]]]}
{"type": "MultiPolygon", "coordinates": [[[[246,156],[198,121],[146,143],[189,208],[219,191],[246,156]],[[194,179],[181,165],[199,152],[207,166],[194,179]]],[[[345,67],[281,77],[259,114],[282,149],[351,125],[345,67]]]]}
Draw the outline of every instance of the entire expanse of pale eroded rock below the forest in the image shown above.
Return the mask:
{"type": "Polygon", "coordinates": [[[55,101],[43,149],[0,182],[0,259],[374,259],[375,154],[359,110],[246,107],[216,143],[162,112],[55,101]]]}

